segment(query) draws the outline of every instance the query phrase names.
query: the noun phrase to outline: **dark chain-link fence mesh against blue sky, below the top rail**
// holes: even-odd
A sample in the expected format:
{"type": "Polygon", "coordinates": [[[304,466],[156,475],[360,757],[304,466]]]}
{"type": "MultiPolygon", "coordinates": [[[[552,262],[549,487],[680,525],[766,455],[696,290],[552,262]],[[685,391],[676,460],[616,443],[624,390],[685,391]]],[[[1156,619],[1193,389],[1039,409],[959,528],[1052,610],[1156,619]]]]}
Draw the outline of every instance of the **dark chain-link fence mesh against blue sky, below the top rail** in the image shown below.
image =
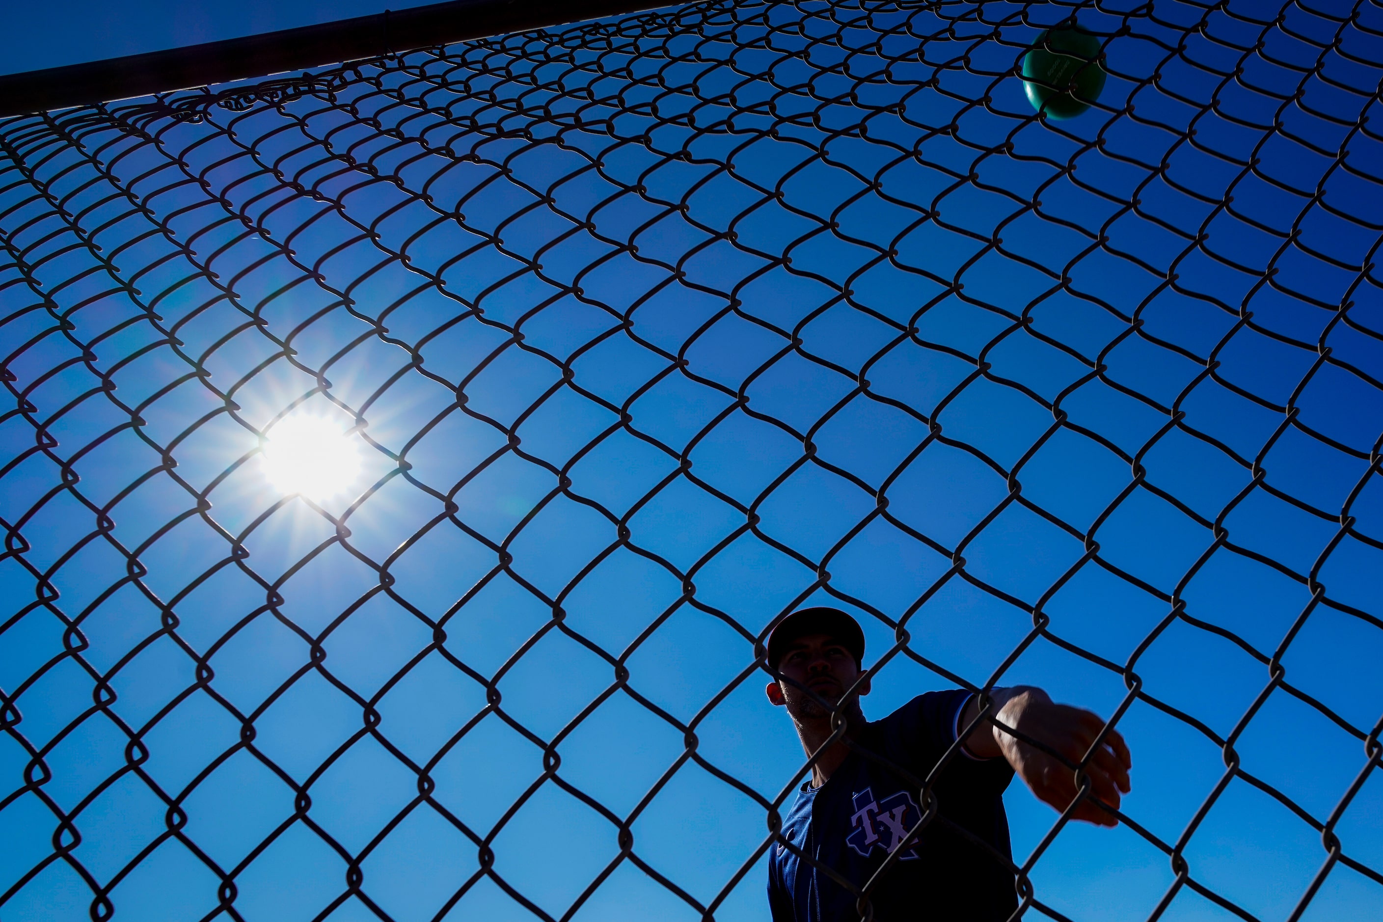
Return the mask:
{"type": "Polygon", "coordinates": [[[715,1],[4,120],[0,914],[763,918],[824,600],[1129,737],[1018,915],[1364,918],[1380,76],[1364,0],[715,1]]]}

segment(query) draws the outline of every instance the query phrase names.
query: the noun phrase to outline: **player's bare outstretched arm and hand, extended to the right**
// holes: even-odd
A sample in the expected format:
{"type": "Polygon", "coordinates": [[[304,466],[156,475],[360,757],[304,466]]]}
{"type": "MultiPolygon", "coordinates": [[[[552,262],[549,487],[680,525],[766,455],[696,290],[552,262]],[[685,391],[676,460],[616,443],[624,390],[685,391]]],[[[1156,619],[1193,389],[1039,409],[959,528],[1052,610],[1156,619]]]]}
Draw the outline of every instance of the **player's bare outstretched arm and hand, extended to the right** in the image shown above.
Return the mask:
{"type": "MultiPolygon", "coordinates": [[[[965,740],[965,748],[981,759],[1003,756],[1039,800],[1057,810],[1069,807],[1079,791],[1076,773],[1041,749],[1022,742],[1000,724],[1046,744],[1075,764],[1086,756],[1091,744],[1105,730],[1105,722],[1083,708],[1055,704],[1046,691],[1032,686],[994,688],[990,691],[990,698],[994,701],[994,720],[981,722],[965,740]]],[[[978,713],[976,695],[965,705],[960,720],[961,730],[969,726],[978,713]]],[[[1105,731],[1099,748],[1086,769],[1091,793],[1117,807],[1120,796],[1129,793],[1131,764],[1129,746],[1124,745],[1119,731],[1113,728],[1105,731]]],[[[1090,798],[1082,800],[1072,816],[1095,825],[1119,825],[1113,814],[1090,798]]]]}

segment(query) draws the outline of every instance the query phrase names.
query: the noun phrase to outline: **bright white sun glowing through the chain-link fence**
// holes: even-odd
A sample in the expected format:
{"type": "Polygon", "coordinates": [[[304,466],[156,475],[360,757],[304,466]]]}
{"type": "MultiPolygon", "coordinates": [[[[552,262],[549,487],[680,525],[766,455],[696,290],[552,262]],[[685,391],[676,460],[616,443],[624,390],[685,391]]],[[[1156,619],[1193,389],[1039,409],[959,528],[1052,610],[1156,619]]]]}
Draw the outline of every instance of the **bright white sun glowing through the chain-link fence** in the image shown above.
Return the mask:
{"type": "Polygon", "coordinates": [[[360,449],[337,423],[299,413],[270,431],[261,456],[264,474],[282,493],[322,500],[344,491],[360,474],[360,449]]]}

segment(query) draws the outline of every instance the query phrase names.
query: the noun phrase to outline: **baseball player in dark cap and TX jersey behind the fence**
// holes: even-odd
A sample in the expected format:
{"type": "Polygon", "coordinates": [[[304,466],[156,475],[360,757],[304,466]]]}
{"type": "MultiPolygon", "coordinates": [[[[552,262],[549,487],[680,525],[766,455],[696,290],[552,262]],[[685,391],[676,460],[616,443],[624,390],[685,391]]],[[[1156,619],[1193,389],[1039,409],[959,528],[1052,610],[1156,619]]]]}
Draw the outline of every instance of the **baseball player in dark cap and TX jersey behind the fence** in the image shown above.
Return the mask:
{"type": "MultiPolygon", "coordinates": [[[[979,715],[978,695],[929,691],[881,720],[866,720],[859,697],[864,633],[837,608],[805,608],[769,634],[769,701],[786,708],[808,756],[827,741],[833,713],[842,740],[817,753],[810,778],[783,817],[769,849],[773,922],[846,922],[862,918],[859,892],[891,853],[891,867],[869,894],[881,922],[990,922],[1018,908],[1003,793],[1018,774],[1039,799],[1065,810],[1077,793],[1076,773],[997,724],[1037,740],[1072,763],[1104,730],[1088,711],[1054,704],[1033,687],[994,688],[993,719],[982,720],[958,756],[936,777],[938,816],[920,834],[921,780],[979,715]],[[916,780],[906,778],[909,773],[916,780]]],[[[1090,793],[1117,807],[1129,792],[1129,748],[1108,730],[1086,774],[1090,793]]],[[[1088,796],[1072,814],[1097,825],[1117,818],[1088,796]]]]}

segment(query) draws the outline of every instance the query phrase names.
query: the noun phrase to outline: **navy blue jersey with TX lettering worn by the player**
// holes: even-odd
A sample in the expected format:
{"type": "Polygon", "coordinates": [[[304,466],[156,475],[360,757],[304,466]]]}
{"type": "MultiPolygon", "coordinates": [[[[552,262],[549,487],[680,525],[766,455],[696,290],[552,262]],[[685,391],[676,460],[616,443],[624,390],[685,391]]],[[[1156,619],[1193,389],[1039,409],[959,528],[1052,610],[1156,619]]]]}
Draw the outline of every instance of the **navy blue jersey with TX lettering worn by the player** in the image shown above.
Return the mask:
{"type": "MultiPolygon", "coordinates": [[[[967,691],[929,691],[882,720],[866,724],[856,742],[927,778],[956,741],[967,691]]],[[[982,847],[947,828],[945,817],[1010,857],[1004,788],[1014,771],[1004,759],[958,753],[932,791],[939,817],[911,842],[920,818],[918,789],[898,771],[851,752],[820,788],[802,785],[783,822],[783,836],[802,853],[862,887],[891,849],[900,860],[873,893],[878,922],[990,922],[1018,908],[1014,875],[982,847]]],[[[769,849],[769,905],[773,922],[859,919],[856,896],[822,868],[777,843],[769,849]]]]}

